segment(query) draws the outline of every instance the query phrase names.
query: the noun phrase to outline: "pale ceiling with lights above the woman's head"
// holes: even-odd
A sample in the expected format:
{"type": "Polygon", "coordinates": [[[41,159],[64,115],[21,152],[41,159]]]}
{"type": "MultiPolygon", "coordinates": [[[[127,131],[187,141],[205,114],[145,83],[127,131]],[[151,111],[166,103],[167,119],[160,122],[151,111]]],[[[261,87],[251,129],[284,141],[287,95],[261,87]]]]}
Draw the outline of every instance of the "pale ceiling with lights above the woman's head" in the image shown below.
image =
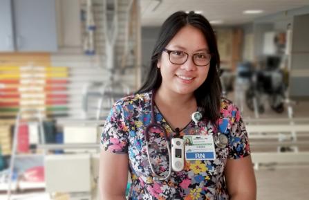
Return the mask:
{"type": "Polygon", "coordinates": [[[140,4],[142,26],[160,26],[171,13],[178,10],[201,10],[209,21],[222,20],[223,26],[231,26],[245,24],[277,12],[309,6],[309,0],[140,0],[140,4]],[[264,12],[256,15],[243,14],[243,10],[253,9],[264,12]]]}

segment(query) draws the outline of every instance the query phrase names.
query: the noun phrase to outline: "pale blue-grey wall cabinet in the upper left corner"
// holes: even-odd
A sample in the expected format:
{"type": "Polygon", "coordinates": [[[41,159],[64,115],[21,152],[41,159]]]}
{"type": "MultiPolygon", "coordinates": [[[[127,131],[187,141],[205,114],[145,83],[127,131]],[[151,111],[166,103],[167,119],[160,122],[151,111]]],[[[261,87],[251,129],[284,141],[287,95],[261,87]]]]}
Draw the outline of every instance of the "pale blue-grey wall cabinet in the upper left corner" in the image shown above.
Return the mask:
{"type": "Polygon", "coordinates": [[[55,0],[1,0],[0,51],[57,51],[55,0]]]}

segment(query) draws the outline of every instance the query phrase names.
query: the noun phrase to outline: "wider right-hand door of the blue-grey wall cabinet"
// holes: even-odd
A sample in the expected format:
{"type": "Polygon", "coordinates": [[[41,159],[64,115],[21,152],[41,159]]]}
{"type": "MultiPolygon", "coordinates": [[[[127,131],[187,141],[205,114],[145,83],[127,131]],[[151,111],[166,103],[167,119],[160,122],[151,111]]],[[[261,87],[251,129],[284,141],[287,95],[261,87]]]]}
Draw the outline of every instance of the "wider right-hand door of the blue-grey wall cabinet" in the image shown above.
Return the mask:
{"type": "Polygon", "coordinates": [[[57,51],[55,0],[13,3],[17,51],[57,51]]]}

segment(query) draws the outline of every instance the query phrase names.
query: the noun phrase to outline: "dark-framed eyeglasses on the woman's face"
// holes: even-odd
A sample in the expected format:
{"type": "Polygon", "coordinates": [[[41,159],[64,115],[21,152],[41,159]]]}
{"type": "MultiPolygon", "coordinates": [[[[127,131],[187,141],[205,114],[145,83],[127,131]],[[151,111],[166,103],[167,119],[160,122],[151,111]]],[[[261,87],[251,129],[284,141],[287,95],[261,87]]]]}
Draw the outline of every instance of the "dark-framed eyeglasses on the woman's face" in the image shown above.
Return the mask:
{"type": "Polygon", "coordinates": [[[212,58],[212,54],[207,52],[189,54],[185,51],[171,51],[166,48],[163,51],[169,54],[169,61],[172,64],[184,64],[187,62],[189,55],[191,55],[196,66],[206,66],[212,58]]]}

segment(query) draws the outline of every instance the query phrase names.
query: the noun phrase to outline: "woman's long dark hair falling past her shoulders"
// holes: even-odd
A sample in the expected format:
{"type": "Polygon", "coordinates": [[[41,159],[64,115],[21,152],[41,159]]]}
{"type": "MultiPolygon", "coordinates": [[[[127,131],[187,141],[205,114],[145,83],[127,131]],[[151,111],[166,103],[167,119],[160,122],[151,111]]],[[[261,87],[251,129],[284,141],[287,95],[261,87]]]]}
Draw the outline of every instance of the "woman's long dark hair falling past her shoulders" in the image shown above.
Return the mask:
{"type": "Polygon", "coordinates": [[[162,51],[169,44],[171,39],[184,26],[191,25],[198,28],[205,36],[210,53],[212,53],[212,60],[210,61],[207,78],[203,84],[194,91],[198,107],[201,107],[203,117],[207,120],[215,122],[220,117],[221,108],[221,82],[218,75],[220,68],[220,57],[218,47],[216,44],[216,36],[214,30],[209,24],[209,21],[203,15],[183,11],[175,12],[169,16],[162,24],[160,34],[156,45],[153,48],[151,56],[151,65],[147,79],[137,93],[143,93],[158,89],[162,82],[160,70],[157,68],[158,60],[162,55],[162,51]]]}

